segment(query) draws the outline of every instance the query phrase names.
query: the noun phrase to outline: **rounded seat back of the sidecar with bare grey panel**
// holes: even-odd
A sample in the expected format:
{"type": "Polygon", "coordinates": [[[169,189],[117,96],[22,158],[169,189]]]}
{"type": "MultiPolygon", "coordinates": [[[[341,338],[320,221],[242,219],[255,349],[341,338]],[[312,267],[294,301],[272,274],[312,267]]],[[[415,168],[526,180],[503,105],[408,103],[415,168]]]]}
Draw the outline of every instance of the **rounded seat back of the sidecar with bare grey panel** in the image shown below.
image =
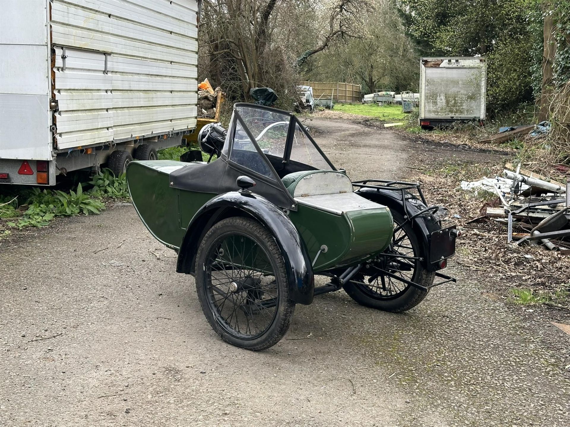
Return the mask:
{"type": "Polygon", "coordinates": [[[352,192],[347,175],[333,170],[299,171],[283,176],[283,185],[293,197],[352,192]]]}

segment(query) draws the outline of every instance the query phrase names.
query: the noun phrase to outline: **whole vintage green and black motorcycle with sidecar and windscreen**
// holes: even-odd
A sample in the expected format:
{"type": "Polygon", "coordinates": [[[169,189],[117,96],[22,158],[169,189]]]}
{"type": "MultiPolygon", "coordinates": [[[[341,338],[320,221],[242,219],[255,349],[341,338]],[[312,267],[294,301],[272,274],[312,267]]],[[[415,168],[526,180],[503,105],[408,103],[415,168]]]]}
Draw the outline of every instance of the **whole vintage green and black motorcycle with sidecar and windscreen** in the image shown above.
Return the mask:
{"type": "Polygon", "coordinates": [[[420,184],[351,182],[294,114],[235,104],[228,130],[209,124],[198,141],[208,162],[131,162],[127,180],[141,220],[178,253],[177,272],[196,278],[226,342],[273,346],[295,304],[318,294],[344,289],[398,313],[455,281],[441,270],[459,231],[442,228],[420,184]],[[316,275],[327,282],[316,286],[316,275]]]}

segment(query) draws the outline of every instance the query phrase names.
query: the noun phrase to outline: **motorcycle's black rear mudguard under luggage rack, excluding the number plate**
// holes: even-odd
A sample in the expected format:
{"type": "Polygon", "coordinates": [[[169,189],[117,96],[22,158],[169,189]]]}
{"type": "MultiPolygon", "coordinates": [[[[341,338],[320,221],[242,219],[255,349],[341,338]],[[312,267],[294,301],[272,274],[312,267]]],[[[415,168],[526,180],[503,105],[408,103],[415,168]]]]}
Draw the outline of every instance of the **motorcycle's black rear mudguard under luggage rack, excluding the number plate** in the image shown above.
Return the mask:
{"type": "MultiPolygon", "coordinates": [[[[402,216],[405,216],[404,201],[402,200],[401,191],[360,188],[360,190],[357,191],[357,194],[363,196],[368,200],[372,200],[372,202],[388,206],[390,210],[400,212],[402,216]]],[[[416,215],[416,213],[424,210],[427,207],[412,193],[405,191],[404,194],[406,198],[406,210],[408,211],[408,215],[410,217],[416,215]]],[[[416,216],[412,220],[412,229],[416,233],[416,236],[420,241],[420,244],[422,245],[422,248],[424,249],[424,253],[426,255],[422,261],[422,265],[429,271],[439,270],[437,263],[430,264],[428,258],[430,253],[431,233],[441,229],[441,224],[435,218],[435,216],[431,214],[431,212],[426,212],[422,215],[416,216]]]]}

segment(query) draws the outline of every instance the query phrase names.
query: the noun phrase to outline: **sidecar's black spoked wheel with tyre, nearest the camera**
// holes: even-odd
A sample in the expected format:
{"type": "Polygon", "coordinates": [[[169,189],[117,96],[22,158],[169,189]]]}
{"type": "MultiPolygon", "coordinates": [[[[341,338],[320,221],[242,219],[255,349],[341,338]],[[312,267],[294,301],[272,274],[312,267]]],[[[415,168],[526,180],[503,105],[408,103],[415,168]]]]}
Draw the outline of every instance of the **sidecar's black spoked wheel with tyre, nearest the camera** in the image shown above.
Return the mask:
{"type": "Polygon", "coordinates": [[[243,217],[219,221],[204,236],[196,259],[196,290],[214,331],[248,350],[278,343],[295,311],[274,237],[243,217]]]}

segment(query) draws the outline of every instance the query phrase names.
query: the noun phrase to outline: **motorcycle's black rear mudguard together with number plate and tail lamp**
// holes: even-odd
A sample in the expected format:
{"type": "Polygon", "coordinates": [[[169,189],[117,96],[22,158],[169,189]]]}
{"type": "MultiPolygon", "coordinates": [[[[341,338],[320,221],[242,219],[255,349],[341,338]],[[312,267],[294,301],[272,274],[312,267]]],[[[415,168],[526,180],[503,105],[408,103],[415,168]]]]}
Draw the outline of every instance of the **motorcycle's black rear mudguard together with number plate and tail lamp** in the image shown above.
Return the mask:
{"type": "MultiPolygon", "coordinates": [[[[390,210],[400,212],[404,215],[404,200],[402,200],[401,191],[360,188],[359,191],[357,191],[357,194],[368,200],[372,200],[372,202],[388,206],[390,210]]],[[[450,229],[442,230],[439,220],[435,218],[431,212],[425,212],[421,215],[415,216],[418,212],[425,210],[426,206],[412,193],[405,191],[404,194],[406,198],[406,211],[408,212],[408,215],[413,218],[412,229],[416,233],[420,244],[424,248],[424,253],[426,254],[426,259],[422,261],[422,264],[428,271],[439,270],[441,269],[439,267],[439,261],[449,258],[455,253],[455,235],[450,229]],[[442,231],[442,235],[445,233],[447,240],[453,240],[451,245],[447,244],[446,247],[443,248],[437,241],[434,241],[434,245],[432,245],[432,233],[435,233],[434,236],[439,236],[439,231],[442,231]],[[435,258],[436,256],[437,258],[435,258]]]]}

